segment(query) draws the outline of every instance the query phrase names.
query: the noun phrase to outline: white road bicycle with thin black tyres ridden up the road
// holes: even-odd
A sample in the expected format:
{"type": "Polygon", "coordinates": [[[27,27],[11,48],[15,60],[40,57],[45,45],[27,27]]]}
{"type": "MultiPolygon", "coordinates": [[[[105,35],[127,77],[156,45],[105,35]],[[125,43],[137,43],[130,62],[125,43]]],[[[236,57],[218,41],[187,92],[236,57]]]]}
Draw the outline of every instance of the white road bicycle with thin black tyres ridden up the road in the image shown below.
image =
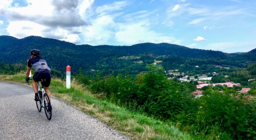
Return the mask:
{"type": "MultiPolygon", "coordinates": [[[[32,79],[29,79],[32,80],[32,79]]],[[[29,84],[29,82],[27,82],[29,84]]],[[[49,96],[44,91],[44,86],[42,84],[38,83],[38,96],[39,101],[36,101],[36,107],[38,109],[38,112],[41,112],[42,108],[44,108],[45,115],[48,120],[51,120],[52,118],[52,110],[49,110],[49,104],[51,104],[49,96]]]]}

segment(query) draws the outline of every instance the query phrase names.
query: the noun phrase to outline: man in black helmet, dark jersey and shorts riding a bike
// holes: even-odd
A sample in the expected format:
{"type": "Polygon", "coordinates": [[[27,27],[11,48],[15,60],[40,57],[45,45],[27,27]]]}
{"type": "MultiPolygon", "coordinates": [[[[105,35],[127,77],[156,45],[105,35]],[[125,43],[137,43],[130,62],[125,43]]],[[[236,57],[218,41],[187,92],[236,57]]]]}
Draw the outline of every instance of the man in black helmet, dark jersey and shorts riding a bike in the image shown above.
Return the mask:
{"type": "MultiPolygon", "coordinates": [[[[40,55],[40,50],[33,49],[30,51],[30,60],[28,60],[27,72],[26,72],[26,81],[28,82],[29,74],[31,67],[34,68],[35,74],[33,76],[33,89],[35,92],[35,101],[39,101],[38,97],[38,84],[37,82],[41,81],[42,86],[44,86],[45,92],[48,94],[51,99],[51,93],[49,90],[50,82],[51,82],[51,69],[48,67],[46,60],[40,55]]],[[[49,104],[49,110],[52,110],[52,106],[49,104]]]]}

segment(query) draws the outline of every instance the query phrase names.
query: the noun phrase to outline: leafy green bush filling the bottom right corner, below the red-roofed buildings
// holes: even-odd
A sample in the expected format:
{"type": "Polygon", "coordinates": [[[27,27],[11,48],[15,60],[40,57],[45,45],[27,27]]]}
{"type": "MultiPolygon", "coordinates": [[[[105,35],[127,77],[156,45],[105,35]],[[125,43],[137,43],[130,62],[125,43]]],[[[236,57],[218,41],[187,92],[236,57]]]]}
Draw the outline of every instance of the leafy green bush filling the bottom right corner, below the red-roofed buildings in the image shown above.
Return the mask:
{"type": "Polygon", "coordinates": [[[244,98],[234,98],[212,89],[206,90],[196,102],[198,111],[194,114],[194,129],[199,133],[211,134],[211,127],[216,126],[234,139],[256,138],[256,122],[253,122],[256,118],[255,102],[248,101],[250,103],[246,104],[244,98]]]}

